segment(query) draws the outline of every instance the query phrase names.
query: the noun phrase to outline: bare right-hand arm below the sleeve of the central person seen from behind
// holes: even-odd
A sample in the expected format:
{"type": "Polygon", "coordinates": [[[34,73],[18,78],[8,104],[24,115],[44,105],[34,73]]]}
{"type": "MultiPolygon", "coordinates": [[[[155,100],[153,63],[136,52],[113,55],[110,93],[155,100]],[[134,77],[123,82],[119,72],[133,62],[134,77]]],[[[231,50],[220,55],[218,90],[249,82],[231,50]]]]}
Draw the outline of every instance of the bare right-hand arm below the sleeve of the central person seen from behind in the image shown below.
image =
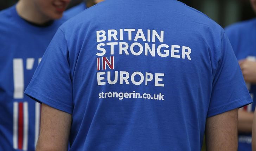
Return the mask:
{"type": "Polygon", "coordinates": [[[207,151],[237,151],[238,109],[206,119],[207,151]]]}

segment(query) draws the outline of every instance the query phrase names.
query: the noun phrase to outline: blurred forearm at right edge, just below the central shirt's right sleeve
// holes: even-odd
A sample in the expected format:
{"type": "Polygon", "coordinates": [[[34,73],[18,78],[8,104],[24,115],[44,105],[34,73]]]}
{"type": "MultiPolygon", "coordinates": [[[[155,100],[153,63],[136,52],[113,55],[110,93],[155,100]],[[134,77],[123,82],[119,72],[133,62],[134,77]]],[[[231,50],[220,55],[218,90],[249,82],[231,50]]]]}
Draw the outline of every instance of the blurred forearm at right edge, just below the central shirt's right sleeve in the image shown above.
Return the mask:
{"type": "Polygon", "coordinates": [[[239,133],[251,133],[252,129],[253,113],[238,110],[238,132],[239,133]]]}

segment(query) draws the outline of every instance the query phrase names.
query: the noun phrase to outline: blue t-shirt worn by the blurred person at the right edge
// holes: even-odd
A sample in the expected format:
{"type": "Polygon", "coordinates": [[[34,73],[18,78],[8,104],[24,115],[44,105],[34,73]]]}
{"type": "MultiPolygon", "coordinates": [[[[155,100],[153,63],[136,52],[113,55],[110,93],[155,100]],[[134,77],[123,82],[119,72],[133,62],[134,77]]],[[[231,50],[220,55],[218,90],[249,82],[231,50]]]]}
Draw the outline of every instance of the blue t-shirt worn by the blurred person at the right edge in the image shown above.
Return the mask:
{"type": "MultiPolygon", "coordinates": [[[[237,59],[256,61],[256,19],[236,23],[227,27],[225,30],[237,59]]],[[[256,85],[248,83],[247,86],[254,103],[243,107],[243,110],[254,112],[256,105],[256,85]]],[[[238,142],[239,151],[252,150],[251,133],[239,133],[238,142]]]]}

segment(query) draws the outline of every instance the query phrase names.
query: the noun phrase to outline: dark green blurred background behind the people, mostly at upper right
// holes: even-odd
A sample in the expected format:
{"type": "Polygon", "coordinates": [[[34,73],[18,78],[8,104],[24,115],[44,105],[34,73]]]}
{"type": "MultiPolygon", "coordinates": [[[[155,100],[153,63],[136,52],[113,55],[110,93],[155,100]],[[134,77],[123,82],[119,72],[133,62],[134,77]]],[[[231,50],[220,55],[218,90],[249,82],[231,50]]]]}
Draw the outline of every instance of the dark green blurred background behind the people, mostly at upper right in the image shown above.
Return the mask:
{"type": "MultiPolygon", "coordinates": [[[[0,10],[14,5],[18,0],[0,0],[0,10]]],[[[72,0],[69,6],[77,5],[82,0],[72,0]]],[[[215,20],[222,27],[238,21],[255,17],[249,0],[180,0],[186,5],[196,8],[215,20]]],[[[205,145],[202,151],[205,151],[205,145]]]]}

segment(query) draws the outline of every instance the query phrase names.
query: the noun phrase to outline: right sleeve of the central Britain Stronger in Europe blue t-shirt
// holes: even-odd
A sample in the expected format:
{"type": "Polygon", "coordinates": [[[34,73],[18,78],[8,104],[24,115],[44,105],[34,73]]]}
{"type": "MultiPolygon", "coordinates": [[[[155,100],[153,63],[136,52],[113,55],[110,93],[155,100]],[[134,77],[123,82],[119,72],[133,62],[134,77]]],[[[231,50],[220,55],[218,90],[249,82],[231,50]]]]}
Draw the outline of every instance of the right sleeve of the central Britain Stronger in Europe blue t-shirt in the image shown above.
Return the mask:
{"type": "Polygon", "coordinates": [[[207,117],[252,103],[229,39],[223,34],[216,58],[217,69],[207,117]]]}

